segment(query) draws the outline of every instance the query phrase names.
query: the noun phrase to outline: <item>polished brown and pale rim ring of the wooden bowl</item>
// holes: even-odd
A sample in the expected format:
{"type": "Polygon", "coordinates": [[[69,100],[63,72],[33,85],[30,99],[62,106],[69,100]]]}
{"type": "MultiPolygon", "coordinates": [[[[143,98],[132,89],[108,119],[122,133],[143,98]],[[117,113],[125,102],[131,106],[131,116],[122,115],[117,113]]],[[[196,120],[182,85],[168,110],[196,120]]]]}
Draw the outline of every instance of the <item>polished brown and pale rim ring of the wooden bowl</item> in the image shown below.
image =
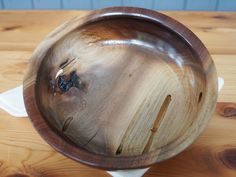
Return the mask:
{"type": "Polygon", "coordinates": [[[41,137],[50,144],[54,149],[64,154],[65,156],[79,161],[83,164],[90,165],[96,168],[106,170],[118,170],[118,169],[135,169],[148,167],[156,162],[168,159],[193,143],[193,141],[199,136],[202,130],[206,127],[207,122],[211,118],[217,100],[217,74],[214,66],[214,62],[211,56],[200,41],[200,39],[187,27],[180,22],[168,17],[162,13],[137,8],[137,7],[111,7],[100,10],[94,10],[83,17],[75,17],[65,22],[52,31],[35,49],[33,52],[30,63],[27,68],[26,75],[23,82],[23,95],[24,103],[27,113],[31,119],[31,122],[41,137]],[[203,69],[208,74],[206,75],[206,95],[211,97],[210,101],[206,102],[208,112],[203,112],[201,115],[206,118],[201,122],[198,129],[194,129],[197,133],[192,133],[185,138],[179,139],[178,144],[173,148],[169,148],[167,151],[162,151],[161,148],[153,152],[130,157],[110,157],[104,155],[93,154],[82,148],[77,147],[73,143],[65,140],[55,131],[53,131],[47,124],[43,116],[41,115],[36,101],[35,85],[37,80],[37,73],[43,56],[47,53],[50,46],[52,46],[61,37],[68,34],[70,31],[80,25],[99,21],[101,19],[108,19],[121,16],[130,16],[138,18],[140,20],[149,20],[153,23],[158,23],[167,27],[169,30],[175,32],[182,37],[189,46],[196,52],[199,59],[203,63],[203,69]],[[70,28],[68,28],[70,26],[70,28]],[[209,70],[209,65],[212,65],[209,70]],[[208,70],[207,70],[208,69],[208,70]],[[177,149],[176,149],[177,147],[177,149]]]}

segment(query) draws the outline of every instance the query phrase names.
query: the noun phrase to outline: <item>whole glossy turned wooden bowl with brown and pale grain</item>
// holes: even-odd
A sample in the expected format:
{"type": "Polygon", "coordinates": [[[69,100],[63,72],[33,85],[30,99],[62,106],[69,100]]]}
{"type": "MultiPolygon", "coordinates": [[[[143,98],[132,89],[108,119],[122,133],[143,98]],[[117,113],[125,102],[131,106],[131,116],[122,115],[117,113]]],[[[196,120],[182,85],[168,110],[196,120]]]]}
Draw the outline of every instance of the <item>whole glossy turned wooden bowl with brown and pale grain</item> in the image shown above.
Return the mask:
{"type": "Polygon", "coordinates": [[[214,63],[188,28],[131,7],[96,10],[34,51],[24,100],[57,151],[103,169],[150,166],[188,147],[217,99],[214,63]]]}

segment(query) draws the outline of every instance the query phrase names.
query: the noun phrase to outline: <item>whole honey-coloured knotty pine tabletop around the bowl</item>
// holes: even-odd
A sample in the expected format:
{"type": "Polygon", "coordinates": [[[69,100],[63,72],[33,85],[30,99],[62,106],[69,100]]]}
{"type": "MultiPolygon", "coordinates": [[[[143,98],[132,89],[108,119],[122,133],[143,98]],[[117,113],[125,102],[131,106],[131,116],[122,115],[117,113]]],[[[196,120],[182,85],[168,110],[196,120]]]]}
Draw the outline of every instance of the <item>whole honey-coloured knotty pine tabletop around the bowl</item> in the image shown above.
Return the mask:
{"type": "MultiPolygon", "coordinates": [[[[47,33],[71,17],[86,13],[0,11],[0,92],[22,83],[29,57],[47,33]]],[[[218,102],[236,102],[236,13],[165,13],[188,26],[209,49],[218,75],[225,79],[218,102]]],[[[25,174],[21,177],[109,176],[54,151],[36,133],[28,118],[15,119],[0,110],[0,176],[17,174],[25,174]]],[[[192,146],[154,165],[145,176],[235,177],[236,116],[220,116],[216,111],[192,146]]]]}

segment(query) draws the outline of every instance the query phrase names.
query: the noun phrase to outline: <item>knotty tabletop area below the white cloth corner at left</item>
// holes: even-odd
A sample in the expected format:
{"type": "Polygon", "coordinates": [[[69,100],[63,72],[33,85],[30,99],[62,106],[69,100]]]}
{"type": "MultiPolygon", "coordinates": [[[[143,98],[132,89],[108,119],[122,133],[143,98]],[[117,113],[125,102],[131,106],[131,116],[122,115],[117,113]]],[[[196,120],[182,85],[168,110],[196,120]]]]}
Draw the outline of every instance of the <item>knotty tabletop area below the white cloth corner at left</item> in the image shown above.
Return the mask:
{"type": "Polygon", "coordinates": [[[0,154],[2,177],[16,173],[29,177],[109,176],[102,170],[92,169],[65,158],[40,138],[28,118],[14,119],[2,110],[0,154]]]}

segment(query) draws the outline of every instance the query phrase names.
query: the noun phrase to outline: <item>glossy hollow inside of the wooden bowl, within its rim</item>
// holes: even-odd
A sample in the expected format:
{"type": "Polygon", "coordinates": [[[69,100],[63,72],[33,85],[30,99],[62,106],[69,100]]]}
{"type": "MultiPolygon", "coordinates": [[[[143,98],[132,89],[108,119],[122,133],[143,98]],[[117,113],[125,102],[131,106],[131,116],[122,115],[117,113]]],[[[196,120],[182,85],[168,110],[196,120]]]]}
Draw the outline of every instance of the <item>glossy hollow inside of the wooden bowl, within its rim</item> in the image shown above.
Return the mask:
{"type": "Polygon", "coordinates": [[[205,99],[199,56],[170,29],[114,17],[79,26],[48,50],[37,106],[78,148],[138,156],[178,141],[205,99]]]}

